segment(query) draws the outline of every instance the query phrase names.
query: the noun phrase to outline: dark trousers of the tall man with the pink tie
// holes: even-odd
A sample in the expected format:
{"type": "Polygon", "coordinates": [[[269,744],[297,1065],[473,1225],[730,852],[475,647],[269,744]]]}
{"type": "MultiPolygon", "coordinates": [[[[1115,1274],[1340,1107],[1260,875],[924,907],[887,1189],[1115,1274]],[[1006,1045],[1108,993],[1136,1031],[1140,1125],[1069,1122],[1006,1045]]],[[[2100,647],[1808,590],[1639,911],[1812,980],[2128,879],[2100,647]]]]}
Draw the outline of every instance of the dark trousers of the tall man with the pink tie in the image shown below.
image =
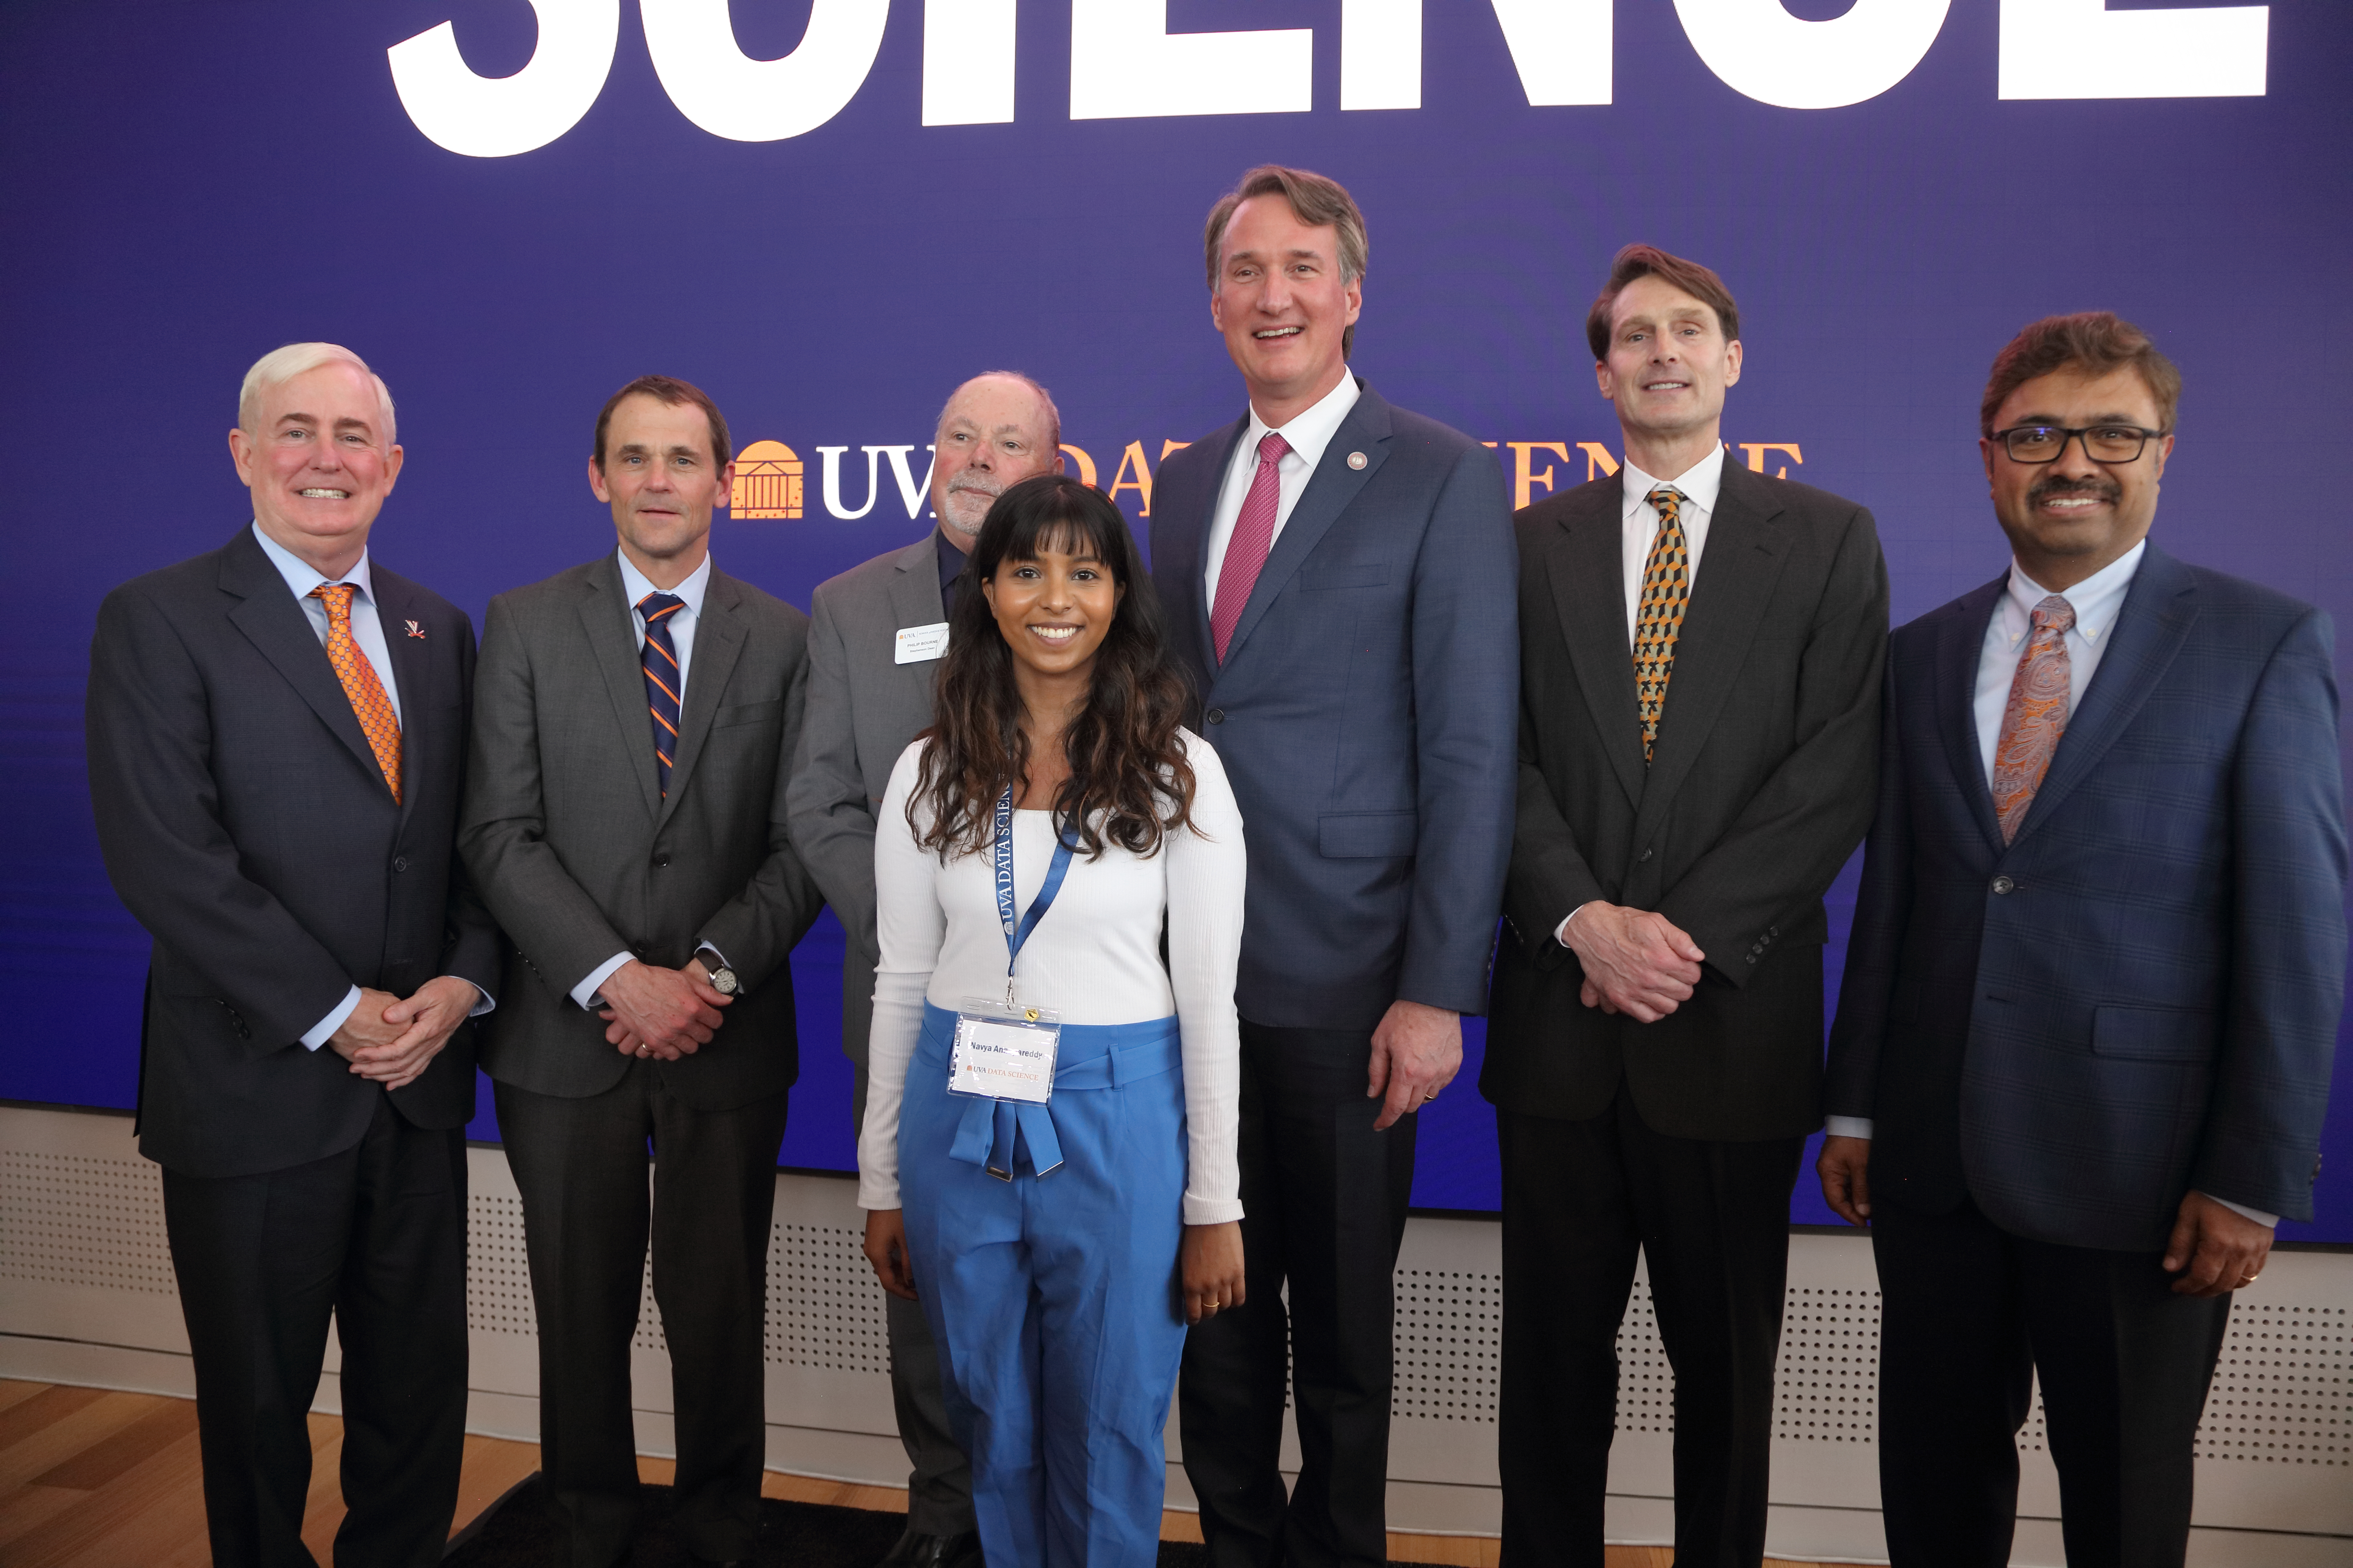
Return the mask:
{"type": "Polygon", "coordinates": [[[1249,1300],[1193,1328],[1176,1380],[1184,1469],[1217,1568],[1388,1561],[1395,1269],[1417,1119],[1372,1131],[1369,1065],[1372,1034],[1242,1020],[1249,1300]],[[1301,1453],[1289,1497],[1285,1361],[1301,1453]]]}

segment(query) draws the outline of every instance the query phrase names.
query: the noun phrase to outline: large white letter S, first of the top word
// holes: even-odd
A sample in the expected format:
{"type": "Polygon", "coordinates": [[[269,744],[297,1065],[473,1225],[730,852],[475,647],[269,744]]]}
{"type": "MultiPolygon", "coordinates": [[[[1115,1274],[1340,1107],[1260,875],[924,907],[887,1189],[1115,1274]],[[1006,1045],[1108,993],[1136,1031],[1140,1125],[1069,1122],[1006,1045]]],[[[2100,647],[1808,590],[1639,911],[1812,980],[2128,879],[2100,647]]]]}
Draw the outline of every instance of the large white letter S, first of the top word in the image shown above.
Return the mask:
{"type": "Polygon", "coordinates": [[[532,0],[539,47],[515,75],[475,75],[445,21],[388,49],[409,120],[452,153],[513,158],[544,148],[588,113],[612,75],[621,0],[532,0]]]}

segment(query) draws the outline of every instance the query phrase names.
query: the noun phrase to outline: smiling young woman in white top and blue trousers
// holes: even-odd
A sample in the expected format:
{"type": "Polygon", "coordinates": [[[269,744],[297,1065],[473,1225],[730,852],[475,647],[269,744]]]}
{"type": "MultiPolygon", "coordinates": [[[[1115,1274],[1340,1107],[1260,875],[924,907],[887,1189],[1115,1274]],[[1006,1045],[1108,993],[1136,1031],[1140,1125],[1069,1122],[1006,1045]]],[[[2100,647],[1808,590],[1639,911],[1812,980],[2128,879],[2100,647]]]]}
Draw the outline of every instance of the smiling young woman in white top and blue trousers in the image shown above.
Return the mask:
{"type": "Polygon", "coordinates": [[[1014,484],[965,571],[875,837],[866,1255],[988,1561],[1148,1568],[1186,1324],[1242,1302],[1242,818],[1101,491],[1014,484]]]}

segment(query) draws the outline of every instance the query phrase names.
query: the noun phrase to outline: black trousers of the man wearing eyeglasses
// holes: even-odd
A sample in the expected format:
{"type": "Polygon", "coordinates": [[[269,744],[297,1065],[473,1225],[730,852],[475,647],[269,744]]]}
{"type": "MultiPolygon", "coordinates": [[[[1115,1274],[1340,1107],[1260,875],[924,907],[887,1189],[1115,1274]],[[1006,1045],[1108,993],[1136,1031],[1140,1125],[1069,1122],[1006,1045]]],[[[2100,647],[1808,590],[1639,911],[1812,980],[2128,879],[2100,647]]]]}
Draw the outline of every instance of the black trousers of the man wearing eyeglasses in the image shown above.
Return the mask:
{"type": "Polygon", "coordinates": [[[1962,1201],[1871,1208],[1880,1265],[1880,1500],[1901,1568],[2000,1568],[2033,1375],[2071,1568],[2179,1568],[2191,1441],[2231,1298],[2172,1293],[2158,1253],[2012,1237],[1962,1201]]]}

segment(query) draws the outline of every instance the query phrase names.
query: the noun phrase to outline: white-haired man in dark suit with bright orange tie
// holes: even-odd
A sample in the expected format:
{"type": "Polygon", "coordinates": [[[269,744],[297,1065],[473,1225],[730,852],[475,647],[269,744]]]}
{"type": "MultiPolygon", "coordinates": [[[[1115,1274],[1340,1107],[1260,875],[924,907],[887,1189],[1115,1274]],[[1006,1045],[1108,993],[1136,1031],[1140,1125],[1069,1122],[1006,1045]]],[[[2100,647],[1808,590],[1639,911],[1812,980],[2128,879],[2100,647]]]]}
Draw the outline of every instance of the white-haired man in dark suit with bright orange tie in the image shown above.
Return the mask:
{"type": "Polygon", "coordinates": [[[334,343],[245,376],[249,527],[115,588],[89,646],[106,870],[155,938],[139,1150],[195,1359],[212,1561],[308,1563],[306,1413],[341,1340],[339,1568],[440,1561],[466,1422],[471,1013],[456,863],[473,623],[369,559],[393,397],[334,343]]]}

